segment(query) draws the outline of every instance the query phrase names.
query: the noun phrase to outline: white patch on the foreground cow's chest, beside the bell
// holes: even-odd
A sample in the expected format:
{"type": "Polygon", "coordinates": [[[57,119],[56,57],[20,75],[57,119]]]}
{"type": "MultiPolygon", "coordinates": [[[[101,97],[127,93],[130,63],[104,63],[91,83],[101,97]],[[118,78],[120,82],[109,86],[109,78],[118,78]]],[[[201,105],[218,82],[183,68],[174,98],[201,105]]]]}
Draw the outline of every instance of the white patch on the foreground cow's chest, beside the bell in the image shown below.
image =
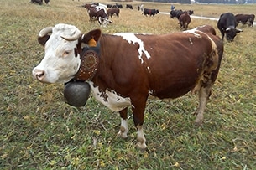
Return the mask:
{"type": "Polygon", "coordinates": [[[96,100],[102,102],[104,106],[107,106],[112,111],[122,111],[124,108],[131,106],[130,98],[123,98],[118,95],[114,90],[106,90],[105,95],[107,95],[107,100],[102,96],[102,92],[99,91],[98,86],[94,87],[93,82],[88,81],[91,86],[91,90],[93,92],[96,100]]]}

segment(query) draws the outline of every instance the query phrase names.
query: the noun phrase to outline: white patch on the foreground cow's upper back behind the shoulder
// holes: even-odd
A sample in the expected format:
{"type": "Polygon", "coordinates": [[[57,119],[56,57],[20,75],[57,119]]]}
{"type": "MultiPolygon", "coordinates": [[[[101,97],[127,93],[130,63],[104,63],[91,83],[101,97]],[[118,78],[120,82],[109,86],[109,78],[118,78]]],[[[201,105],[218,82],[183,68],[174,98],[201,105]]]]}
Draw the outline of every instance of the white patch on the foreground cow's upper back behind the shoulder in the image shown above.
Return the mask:
{"type": "Polygon", "coordinates": [[[141,63],[144,63],[144,60],[142,59],[142,54],[144,53],[147,57],[147,59],[150,59],[150,54],[149,52],[144,48],[144,42],[141,39],[138,39],[136,37],[135,33],[115,33],[114,35],[121,36],[123,39],[127,40],[129,44],[133,43],[138,43],[139,48],[138,48],[138,59],[140,59],[141,63]]]}

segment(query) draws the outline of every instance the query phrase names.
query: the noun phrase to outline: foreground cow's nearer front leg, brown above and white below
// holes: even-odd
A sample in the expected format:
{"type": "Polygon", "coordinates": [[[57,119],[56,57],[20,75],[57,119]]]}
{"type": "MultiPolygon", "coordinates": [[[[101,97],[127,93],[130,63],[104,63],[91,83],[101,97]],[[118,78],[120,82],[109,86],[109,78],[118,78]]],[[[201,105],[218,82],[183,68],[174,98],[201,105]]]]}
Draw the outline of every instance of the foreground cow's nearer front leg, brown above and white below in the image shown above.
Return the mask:
{"type": "Polygon", "coordinates": [[[142,98],[140,98],[140,100],[137,100],[137,101],[132,100],[133,122],[138,130],[137,147],[139,149],[143,149],[143,150],[145,148],[147,148],[146,138],[144,136],[144,131],[143,131],[144,111],[145,111],[146,101],[147,101],[147,97],[145,97],[145,98],[142,97],[142,98]]]}

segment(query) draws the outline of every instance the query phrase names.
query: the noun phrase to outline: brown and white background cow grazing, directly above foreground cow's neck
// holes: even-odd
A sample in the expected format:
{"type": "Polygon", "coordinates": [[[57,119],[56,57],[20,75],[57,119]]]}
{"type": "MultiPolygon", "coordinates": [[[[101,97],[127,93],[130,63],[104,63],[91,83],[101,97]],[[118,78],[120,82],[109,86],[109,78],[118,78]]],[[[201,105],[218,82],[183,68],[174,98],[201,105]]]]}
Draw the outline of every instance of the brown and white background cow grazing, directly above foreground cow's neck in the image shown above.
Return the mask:
{"type": "Polygon", "coordinates": [[[96,6],[94,8],[90,8],[88,10],[90,21],[98,21],[101,26],[106,27],[108,23],[112,23],[111,20],[108,19],[105,8],[100,6],[96,6]]]}

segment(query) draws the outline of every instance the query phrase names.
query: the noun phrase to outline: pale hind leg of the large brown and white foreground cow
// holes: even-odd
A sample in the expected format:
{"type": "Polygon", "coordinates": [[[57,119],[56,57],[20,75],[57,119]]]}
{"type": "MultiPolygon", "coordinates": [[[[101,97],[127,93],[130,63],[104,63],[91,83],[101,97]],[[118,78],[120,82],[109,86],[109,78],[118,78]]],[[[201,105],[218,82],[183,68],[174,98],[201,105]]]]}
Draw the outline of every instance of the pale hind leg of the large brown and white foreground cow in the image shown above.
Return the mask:
{"type": "Polygon", "coordinates": [[[209,100],[209,96],[211,95],[211,89],[212,85],[207,85],[205,87],[201,87],[199,90],[199,107],[197,111],[197,116],[196,116],[196,125],[201,125],[202,121],[204,119],[204,111],[206,109],[206,104],[207,101],[209,100]]]}

